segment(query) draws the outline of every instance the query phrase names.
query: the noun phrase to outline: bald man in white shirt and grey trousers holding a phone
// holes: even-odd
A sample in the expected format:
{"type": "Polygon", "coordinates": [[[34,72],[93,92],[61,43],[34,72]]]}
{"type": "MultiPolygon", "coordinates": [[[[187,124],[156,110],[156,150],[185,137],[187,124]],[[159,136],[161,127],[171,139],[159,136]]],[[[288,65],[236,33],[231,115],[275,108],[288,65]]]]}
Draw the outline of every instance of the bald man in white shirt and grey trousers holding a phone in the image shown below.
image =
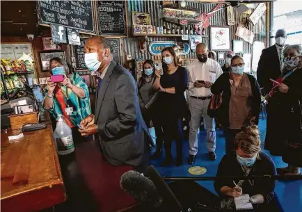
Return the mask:
{"type": "Polygon", "coordinates": [[[207,129],[207,150],[209,159],[216,160],[216,131],[215,120],[207,115],[207,106],[211,100],[211,86],[223,73],[221,66],[211,58],[207,58],[207,45],[200,43],[196,47],[196,56],[188,66],[189,72],[189,98],[187,99],[191,113],[189,132],[189,164],[193,164],[198,153],[197,133],[201,117],[207,129]]]}

